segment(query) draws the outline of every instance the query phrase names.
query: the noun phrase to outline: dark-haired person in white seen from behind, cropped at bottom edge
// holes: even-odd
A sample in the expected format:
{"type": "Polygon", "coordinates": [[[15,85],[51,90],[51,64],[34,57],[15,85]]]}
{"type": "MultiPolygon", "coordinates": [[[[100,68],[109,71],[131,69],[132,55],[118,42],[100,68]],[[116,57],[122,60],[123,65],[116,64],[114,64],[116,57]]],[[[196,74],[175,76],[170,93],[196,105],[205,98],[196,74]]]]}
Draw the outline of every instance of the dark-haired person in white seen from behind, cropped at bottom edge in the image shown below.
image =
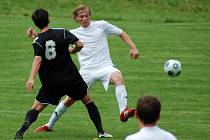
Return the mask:
{"type": "Polygon", "coordinates": [[[157,126],[160,110],[161,104],[157,98],[141,97],[137,102],[135,113],[140,130],[127,136],[125,140],[177,140],[173,134],[157,126]]]}

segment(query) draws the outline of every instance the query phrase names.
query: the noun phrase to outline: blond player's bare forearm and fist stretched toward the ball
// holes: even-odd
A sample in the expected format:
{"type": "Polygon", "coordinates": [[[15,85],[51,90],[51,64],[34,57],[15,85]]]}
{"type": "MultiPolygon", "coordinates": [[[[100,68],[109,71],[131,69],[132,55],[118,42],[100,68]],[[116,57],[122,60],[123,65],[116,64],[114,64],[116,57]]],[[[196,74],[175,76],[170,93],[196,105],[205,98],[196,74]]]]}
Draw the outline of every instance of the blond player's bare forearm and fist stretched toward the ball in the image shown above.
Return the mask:
{"type": "Polygon", "coordinates": [[[119,36],[130,47],[131,58],[137,59],[139,57],[139,51],[131,38],[125,32],[121,32],[119,36]]]}

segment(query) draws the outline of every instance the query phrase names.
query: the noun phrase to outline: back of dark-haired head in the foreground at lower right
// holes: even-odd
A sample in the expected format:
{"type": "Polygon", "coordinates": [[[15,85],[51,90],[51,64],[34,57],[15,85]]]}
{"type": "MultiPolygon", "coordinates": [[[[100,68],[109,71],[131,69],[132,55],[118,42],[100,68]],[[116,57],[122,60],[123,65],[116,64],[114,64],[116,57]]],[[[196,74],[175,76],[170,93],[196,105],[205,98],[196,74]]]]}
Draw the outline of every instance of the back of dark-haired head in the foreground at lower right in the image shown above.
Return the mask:
{"type": "Polygon", "coordinates": [[[138,100],[136,110],[144,124],[154,124],[160,117],[161,104],[153,96],[143,96],[138,100]]]}

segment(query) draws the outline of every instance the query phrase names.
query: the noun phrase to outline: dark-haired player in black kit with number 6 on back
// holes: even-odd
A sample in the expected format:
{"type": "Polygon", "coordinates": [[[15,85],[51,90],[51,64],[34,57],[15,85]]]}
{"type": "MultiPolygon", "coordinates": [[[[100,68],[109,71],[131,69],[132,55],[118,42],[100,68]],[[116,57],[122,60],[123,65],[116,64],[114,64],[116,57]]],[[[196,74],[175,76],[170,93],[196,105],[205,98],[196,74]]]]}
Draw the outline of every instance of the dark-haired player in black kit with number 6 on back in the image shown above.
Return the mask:
{"type": "Polygon", "coordinates": [[[32,108],[27,111],[22,126],[17,130],[14,139],[23,139],[25,131],[36,121],[38,114],[48,104],[57,105],[61,97],[82,100],[98,133],[104,133],[101,117],[97,107],[87,95],[87,85],[69,55],[69,45],[75,44],[73,52],[80,51],[83,44],[79,39],[63,28],[50,28],[48,12],[36,9],[32,14],[34,24],[41,33],[34,39],[34,60],[26,83],[29,92],[33,90],[34,79],[39,74],[42,86],[36,96],[32,108]]]}

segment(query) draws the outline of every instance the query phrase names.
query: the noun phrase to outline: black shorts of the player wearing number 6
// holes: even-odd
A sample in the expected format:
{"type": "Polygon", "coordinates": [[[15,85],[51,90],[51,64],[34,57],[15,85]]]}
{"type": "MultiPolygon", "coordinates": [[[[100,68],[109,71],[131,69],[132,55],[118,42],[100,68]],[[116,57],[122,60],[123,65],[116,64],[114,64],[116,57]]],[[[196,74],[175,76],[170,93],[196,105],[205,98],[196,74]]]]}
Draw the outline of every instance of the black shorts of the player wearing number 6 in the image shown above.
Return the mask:
{"type": "Polygon", "coordinates": [[[41,87],[36,100],[43,104],[58,105],[60,99],[65,95],[74,100],[81,100],[87,95],[87,85],[81,83],[66,89],[41,87]]]}

